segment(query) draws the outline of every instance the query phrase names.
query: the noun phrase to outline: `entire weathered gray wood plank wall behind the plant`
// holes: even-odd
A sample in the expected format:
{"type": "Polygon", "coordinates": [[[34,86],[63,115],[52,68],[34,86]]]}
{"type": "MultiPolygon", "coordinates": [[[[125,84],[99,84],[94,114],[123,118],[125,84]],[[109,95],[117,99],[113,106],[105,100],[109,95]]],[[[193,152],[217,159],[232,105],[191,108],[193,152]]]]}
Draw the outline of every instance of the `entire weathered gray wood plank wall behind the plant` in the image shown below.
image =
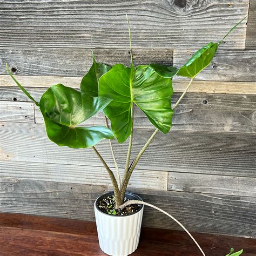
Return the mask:
{"type": "MultiPolygon", "coordinates": [[[[99,62],[129,65],[126,13],[134,62],[177,66],[249,13],[177,107],[172,131],[159,133],[145,152],[130,190],[191,231],[256,237],[255,12],[254,0],[1,2],[0,211],[94,220],[93,201],[111,190],[92,150],[49,141],[41,114],[7,75],[6,62],[39,99],[52,84],[79,88],[92,63],[92,34],[99,62]]],[[[173,102],[186,84],[173,81],[173,102]]],[[[86,124],[103,122],[98,114],[86,124]]],[[[153,129],[138,110],[135,124],[132,157],[153,129]]],[[[113,167],[108,143],[97,147],[113,167]]],[[[120,165],[126,147],[114,143],[120,165]]],[[[152,209],[143,225],[179,228],[152,209]]]]}

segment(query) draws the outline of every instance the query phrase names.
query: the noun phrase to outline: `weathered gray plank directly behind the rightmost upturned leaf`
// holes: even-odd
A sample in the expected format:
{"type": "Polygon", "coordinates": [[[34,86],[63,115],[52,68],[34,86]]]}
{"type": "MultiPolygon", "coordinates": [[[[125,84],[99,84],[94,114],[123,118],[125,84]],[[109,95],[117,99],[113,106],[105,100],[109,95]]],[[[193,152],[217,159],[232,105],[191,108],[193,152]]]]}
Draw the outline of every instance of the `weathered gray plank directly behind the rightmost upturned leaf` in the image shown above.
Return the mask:
{"type": "MultiPolygon", "coordinates": [[[[174,50],[173,65],[180,67],[195,50],[174,50]]],[[[212,63],[197,79],[224,81],[255,81],[256,50],[218,50],[212,63]]],[[[180,78],[184,79],[184,78],[180,78]]]]}

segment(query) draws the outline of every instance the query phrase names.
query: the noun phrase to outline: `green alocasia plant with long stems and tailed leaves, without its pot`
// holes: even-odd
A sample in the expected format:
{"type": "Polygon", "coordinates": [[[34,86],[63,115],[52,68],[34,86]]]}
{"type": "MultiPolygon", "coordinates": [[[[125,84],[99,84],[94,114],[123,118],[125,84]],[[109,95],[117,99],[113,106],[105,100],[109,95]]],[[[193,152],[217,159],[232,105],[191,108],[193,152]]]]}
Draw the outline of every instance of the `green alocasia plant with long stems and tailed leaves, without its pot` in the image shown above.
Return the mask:
{"type": "MultiPolygon", "coordinates": [[[[242,19],[242,21],[243,20],[244,19],[242,19]]],[[[46,133],[52,142],[55,142],[59,146],[69,146],[72,148],[92,147],[96,152],[111,178],[116,200],[116,209],[135,203],[154,207],[142,201],[134,200],[123,204],[125,191],[131,174],[140,157],[142,157],[147,146],[149,146],[158,131],[160,130],[163,133],[170,131],[174,109],[176,109],[180,100],[190,88],[193,79],[211,63],[219,44],[223,42],[223,40],[221,40],[219,43],[211,42],[206,44],[203,48],[194,53],[187,63],[180,68],[158,64],[134,66],[130,26],[129,36],[131,51],[130,67],[126,67],[123,64],[116,64],[110,67],[102,63],[97,63],[92,52],[93,64],[80,83],[80,91],[62,84],[53,85],[44,92],[39,103],[17,82],[7,66],[7,70],[16,84],[37,106],[39,106],[44,117],[46,133]],[[189,77],[191,80],[178,101],[171,107],[171,97],[173,94],[172,78],[174,76],[189,77]],[[138,156],[131,162],[134,105],[145,113],[151,124],[156,127],[156,131],[153,132],[138,156]],[[80,126],[86,119],[101,110],[105,113],[107,127],[80,126]],[[109,128],[107,118],[111,121],[112,130],[109,128]],[[125,140],[130,137],[122,180],[111,143],[111,139],[114,137],[116,137],[119,143],[125,142],[125,140]],[[95,148],[95,145],[102,139],[110,139],[118,181],[113,171],[95,148]]],[[[163,210],[160,211],[164,212],[163,210]]],[[[112,211],[112,214],[116,214],[116,211],[112,211]]],[[[173,218],[170,214],[167,215],[173,218]]],[[[179,223],[175,218],[173,219],[179,223]]],[[[184,226],[182,227],[185,229],[184,226]]],[[[192,235],[187,230],[186,232],[193,239],[192,235]]],[[[199,245],[198,247],[200,248],[199,245]]],[[[202,250],[201,252],[203,253],[202,250]]]]}

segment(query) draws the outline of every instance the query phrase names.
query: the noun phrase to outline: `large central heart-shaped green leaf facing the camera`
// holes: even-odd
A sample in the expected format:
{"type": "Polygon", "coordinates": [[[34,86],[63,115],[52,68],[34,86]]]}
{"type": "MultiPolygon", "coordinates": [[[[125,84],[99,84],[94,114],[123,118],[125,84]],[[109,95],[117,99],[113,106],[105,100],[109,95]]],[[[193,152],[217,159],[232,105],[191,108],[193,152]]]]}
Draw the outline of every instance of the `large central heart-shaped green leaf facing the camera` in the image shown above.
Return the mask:
{"type": "Polygon", "coordinates": [[[131,108],[136,104],[160,131],[171,127],[172,81],[159,76],[148,65],[127,68],[116,64],[99,79],[99,96],[113,99],[104,109],[119,143],[132,131],[131,108]]]}

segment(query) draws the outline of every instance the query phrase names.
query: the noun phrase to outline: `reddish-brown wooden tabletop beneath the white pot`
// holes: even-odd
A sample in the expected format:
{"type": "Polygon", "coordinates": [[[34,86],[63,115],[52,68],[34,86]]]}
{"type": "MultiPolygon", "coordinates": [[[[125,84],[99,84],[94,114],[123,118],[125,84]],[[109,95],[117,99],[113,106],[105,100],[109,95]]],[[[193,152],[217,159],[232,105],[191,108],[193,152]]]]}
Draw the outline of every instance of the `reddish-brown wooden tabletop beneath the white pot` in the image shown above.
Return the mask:
{"type": "MultiPolygon", "coordinates": [[[[206,255],[225,255],[230,247],[256,255],[256,239],[192,233],[206,255]]],[[[96,224],[90,221],[0,213],[0,255],[106,255],[98,244],[96,224]]],[[[132,255],[201,255],[183,231],[142,228],[132,255]]]]}

